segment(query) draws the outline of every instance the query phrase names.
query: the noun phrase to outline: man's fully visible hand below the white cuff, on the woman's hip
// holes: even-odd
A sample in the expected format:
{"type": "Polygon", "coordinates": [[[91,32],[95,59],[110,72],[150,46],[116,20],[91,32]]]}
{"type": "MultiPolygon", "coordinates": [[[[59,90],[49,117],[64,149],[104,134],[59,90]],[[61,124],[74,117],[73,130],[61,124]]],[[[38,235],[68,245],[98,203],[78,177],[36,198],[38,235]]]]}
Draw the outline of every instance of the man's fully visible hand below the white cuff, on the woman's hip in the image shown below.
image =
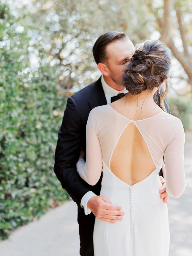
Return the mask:
{"type": "Polygon", "coordinates": [[[120,211],[121,206],[111,204],[106,196],[92,196],[87,207],[91,209],[93,214],[99,220],[115,223],[116,220],[123,220],[124,212],[120,211]]]}

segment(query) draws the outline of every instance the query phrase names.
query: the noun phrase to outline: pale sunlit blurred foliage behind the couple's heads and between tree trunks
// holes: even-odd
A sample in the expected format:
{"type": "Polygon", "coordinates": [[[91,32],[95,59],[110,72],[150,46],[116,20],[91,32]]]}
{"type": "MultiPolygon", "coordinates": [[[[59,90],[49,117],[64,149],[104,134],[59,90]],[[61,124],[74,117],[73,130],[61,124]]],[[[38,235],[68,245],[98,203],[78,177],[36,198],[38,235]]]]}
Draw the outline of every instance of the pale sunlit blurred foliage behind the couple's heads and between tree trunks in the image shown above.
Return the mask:
{"type": "MultiPolygon", "coordinates": [[[[175,1],[175,8],[181,8],[191,52],[192,6],[189,2],[183,0],[181,4],[181,1],[175,1]]],[[[172,12],[174,27],[171,36],[182,54],[175,10],[172,12]]],[[[35,29],[28,29],[31,51],[37,50],[38,56],[38,51],[43,48],[46,51],[45,62],[57,69],[62,88],[73,92],[100,76],[92,55],[98,36],[112,30],[124,31],[133,44],[137,44],[149,37],[159,38],[164,20],[163,1],[157,0],[36,0],[26,4],[19,15],[23,13],[29,14],[24,19],[25,23],[35,24],[35,29]]],[[[176,65],[171,71],[173,85],[184,81],[186,85],[188,76],[181,64],[174,60],[176,65]]]]}

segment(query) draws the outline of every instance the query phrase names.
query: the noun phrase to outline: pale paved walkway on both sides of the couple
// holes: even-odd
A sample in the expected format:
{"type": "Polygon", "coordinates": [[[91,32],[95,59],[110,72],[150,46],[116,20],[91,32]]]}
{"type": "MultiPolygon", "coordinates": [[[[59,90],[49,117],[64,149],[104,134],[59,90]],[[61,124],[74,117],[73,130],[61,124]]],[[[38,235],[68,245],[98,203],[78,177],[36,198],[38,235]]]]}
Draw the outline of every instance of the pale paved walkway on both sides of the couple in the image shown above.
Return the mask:
{"type": "MultiPolygon", "coordinates": [[[[169,222],[171,244],[169,256],[192,255],[192,134],[186,134],[186,190],[178,199],[170,198],[169,222]]],[[[79,256],[77,206],[66,202],[12,232],[0,243],[3,256],[79,256]]]]}

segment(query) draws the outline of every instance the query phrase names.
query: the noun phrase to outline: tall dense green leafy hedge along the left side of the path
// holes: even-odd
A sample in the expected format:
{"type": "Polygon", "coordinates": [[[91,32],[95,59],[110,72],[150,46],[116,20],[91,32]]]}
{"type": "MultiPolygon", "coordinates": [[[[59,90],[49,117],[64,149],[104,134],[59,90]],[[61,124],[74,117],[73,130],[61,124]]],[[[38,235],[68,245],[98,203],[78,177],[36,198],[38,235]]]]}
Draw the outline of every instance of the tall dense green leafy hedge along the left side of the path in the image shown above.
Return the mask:
{"type": "MultiPolygon", "coordinates": [[[[30,68],[20,20],[0,9],[0,239],[67,199],[53,172],[66,102],[53,68],[30,68]]],[[[43,51],[40,57],[43,58],[43,51]]],[[[39,59],[39,61],[41,61],[39,59]]]]}

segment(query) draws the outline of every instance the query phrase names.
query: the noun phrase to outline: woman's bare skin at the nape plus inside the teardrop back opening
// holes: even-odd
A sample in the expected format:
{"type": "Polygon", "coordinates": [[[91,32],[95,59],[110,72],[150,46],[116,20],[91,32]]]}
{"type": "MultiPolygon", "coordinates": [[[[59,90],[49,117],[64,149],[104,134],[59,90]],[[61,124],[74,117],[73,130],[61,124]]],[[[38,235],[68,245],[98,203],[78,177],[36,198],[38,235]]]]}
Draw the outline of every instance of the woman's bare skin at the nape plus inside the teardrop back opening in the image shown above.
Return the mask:
{"type": "Polygon", "coordinates": [[[110,169],[120,180],[133,185],[145,179],[156,169],[146,141],[136,125],[137,122],[134,122],[134,120],[153,117],[162,112],[162,109],[155,105],[155,108],[149,111],[154,106],[154,102],[152,102],[148,104],[149,110],[145,108],[146,104],[144,104],[145,111],[142,113],[143,104],[140,104],[142,106],[141,109],[138,109],[138,102],[137,106],[135,102],[126,104],[129,101],[129,99],[126,99],[127,96],[124,97],[125,99],[118,100],[110,105],[119,114],[132,120],[124,129],[113,150],[110,169]]]}

